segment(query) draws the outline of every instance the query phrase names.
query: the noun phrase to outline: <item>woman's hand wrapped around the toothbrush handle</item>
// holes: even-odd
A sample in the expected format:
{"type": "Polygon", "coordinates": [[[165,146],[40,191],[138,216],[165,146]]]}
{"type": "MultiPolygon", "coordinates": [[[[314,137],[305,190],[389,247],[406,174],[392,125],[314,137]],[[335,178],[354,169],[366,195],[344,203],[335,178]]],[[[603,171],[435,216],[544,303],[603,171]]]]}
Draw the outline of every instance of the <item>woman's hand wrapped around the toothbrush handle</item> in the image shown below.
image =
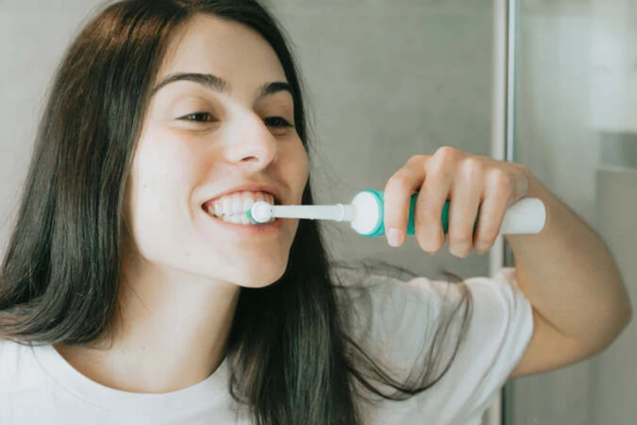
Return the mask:
{"type": "Polygon", "coordinates": [[[433,155],[414,155],[385,186],[384,225],[389,244],[403,244],[409,201],[417,191],[415,236],[423,251],[434,254],[446,242],[441,217],[449,200],[449,252],[461,259],[474,248],[484,254],[495,243],[507,208],[526,196],[528,172],[521,164],[453,147],[441,147],[433,155]]]}

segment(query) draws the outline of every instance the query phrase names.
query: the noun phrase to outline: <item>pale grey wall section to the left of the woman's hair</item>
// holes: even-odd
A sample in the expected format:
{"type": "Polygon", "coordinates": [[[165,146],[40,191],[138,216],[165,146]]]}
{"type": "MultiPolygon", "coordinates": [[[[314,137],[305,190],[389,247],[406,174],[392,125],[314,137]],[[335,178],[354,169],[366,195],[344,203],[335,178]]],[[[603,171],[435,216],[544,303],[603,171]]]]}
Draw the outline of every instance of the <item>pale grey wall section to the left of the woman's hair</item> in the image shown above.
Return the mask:
{"type": "Polygon", "coordinates": [[[46,90],[95,1],[0,0],[0,253],[4,253],[46,90]]]}

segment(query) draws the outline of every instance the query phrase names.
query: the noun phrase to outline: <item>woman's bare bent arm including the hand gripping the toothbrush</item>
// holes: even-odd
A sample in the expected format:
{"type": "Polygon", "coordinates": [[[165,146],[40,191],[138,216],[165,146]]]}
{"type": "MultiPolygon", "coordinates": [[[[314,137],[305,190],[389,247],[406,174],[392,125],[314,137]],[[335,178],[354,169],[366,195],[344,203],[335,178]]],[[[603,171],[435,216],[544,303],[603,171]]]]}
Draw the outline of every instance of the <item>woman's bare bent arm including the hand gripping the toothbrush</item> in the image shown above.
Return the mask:
{"type": "Polygon", "coordinates": [[[493,246],[507,208],[540,198],[546,224],[539,234],[507,235],[517,283],[533,307],[534,332],[512,376],[575,363],[598,353],[632,317],[629,297],[607,246],[522,164],[441,147],[414,155],[385,186],[384,225],[392,246],[405,239],[410,198],[418,191],[415,236],[433,254],[445,241],[465,258],[493,246]],[[440,216],[449,199],[449,234],[440,216]],[[478,213],[478,226],[473,227],[478,213]]]}

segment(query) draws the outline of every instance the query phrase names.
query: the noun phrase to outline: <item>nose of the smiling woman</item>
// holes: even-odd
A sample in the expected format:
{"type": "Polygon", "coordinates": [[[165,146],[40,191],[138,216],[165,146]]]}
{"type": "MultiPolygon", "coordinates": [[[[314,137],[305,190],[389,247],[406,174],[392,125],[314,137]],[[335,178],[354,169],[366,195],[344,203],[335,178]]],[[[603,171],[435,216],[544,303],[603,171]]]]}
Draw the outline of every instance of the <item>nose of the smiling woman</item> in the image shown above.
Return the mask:
{"type": "Polygon", "coordinates": [[[277,139],[256,114],[244,114],[233,125],[229,136],[229,161],[263,169],[277,160],[277,139]]]}

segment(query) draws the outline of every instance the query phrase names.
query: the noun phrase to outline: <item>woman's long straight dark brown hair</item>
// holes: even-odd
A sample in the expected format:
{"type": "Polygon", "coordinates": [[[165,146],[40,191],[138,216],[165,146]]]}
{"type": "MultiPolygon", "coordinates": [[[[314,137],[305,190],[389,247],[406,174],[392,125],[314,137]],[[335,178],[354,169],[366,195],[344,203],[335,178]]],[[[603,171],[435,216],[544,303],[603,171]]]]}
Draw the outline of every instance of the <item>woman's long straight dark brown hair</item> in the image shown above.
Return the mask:
{"type": "MultiPolygon", "coordinates": [[[[110,334],[132,154],[166,46],[197,13],[242,23],[270,43],[292,86],[294,122],[308,149],[297,68],[280,26],[256,0],[128,0],[105,7],[70,45],[52,84],[0,269],[0,338],[88,345],[110,334]]],[[[309,183],[302,202],[313,203],[309,183]]],[[[471,310],[466,287],[448,321],[438,324],[425,360],[414,365],[417,379],[400,382],[348,334],[349,309],[339,308],[336,296],[345,285],[334,266],[319,224],[302,220],[282,278],[241,288],[226,342],[229,389],[255,424],[360,424],[355,397],[364,390],[405,399],[435,384],[452,363],[471,310]],[[440,347],[454,319],[461,333],[448,355],[440,347]],[[385,394],[374,380],[396,392],[385,394]]],[[[374,272],[364,270],[362,280],[374,272]]]]}

